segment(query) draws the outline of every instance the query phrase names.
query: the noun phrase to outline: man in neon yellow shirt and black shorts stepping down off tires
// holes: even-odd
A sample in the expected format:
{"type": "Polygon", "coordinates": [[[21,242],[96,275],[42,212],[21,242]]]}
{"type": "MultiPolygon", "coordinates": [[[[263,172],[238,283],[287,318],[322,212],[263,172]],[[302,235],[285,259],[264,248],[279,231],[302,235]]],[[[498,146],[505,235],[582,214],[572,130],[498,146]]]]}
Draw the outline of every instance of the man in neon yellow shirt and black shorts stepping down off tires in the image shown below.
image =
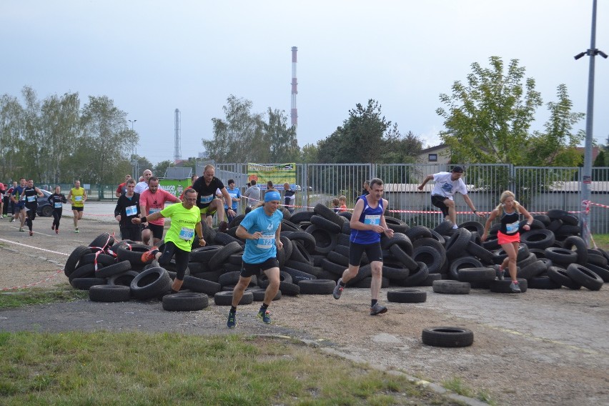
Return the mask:
{"type": "Polygon", "coordinates": [[[162,209],[160,212],[152,213],[142,218],[134,218],[134,224],[142,222],[154,222],[154,220],[169,217],[172,225],[165,234],[165,248],[160,252],[157,247],[152,247],[149,251],[142,254],[142,262],[152,262],[157,259],[159,264],[169,264],[172,257],[176,256],[176,279],[172,284],[172,291],[178,292],[184,281],[184,272],[188,267],[190,250],[194,234],[199,238],[199,245],[204,247],[203,228],[201,226],[201,211],[197,207],[197,192],[188,188],[184,192],[184,202],[182,204],[172,204],[162,209]]]}

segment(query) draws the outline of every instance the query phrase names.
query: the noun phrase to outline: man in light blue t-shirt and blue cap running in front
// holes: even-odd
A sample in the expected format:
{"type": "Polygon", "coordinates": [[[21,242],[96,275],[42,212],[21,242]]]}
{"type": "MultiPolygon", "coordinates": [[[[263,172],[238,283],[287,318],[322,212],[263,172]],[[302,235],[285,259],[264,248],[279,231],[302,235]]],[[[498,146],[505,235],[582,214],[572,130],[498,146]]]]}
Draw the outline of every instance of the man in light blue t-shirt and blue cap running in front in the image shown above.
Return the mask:
{"type": "Polygon", "coordinates": [[[265,323],[271,322],[267,308],[279,290],[279,263],[277,249],[283,244],[279,239],[283,214],[279,208],[281,194],[273,190],[264,194],[264,203],[247,213],[237,228],[237,237],[245,239],[243,262],[239,282],[232,291],[232,307],[229,311],[227,327],[237,325],[237,304],[243,297],[245,288],[253,275],[264,272],[269,278],[269,286],[264,293],[258,317],[265,323]]]}

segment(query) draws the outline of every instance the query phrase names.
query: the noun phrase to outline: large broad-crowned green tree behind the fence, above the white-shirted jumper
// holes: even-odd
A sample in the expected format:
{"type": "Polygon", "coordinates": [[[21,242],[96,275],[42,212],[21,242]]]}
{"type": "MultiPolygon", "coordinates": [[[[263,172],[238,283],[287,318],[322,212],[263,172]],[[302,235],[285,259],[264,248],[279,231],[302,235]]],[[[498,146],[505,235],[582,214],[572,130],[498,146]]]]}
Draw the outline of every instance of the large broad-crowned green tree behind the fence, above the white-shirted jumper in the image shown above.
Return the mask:
{"type": "Polygon", "coordinates": [[[436,111],[445,119],[440,139],[453,162],[525,163],[530,125],[542,100],[517,59],[505,73],[498,56],[490,57],[490,68],[475,62],[466,84],[455,81],[452,94],[440,94],[440,101],[447,105],[436,111]]]}

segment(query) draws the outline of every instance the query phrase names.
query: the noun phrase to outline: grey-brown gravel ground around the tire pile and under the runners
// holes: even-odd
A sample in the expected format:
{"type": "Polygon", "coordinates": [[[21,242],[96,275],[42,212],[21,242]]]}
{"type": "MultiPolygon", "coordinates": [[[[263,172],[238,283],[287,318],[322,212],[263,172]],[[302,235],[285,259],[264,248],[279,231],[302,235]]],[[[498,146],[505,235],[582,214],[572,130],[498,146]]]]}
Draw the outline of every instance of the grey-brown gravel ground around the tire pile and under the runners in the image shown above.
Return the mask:
{"type": "MultiPolygon", "coordinates": [[[[71,226],[70,218],[62,222],[71,226]]],[[[79,234],[71,227],[54,234],[46,217],[36,218],[34,237],[14,224],[0,221],[0,289],[49,277],[36,286],[65,284],[63,272],[56,273],[65,254],[101,232],[118,229],[112,219],[87,214],[79,234]]],[[[609,405],[608,287],[598,292],[529,289],[524,294],[472,289],[467,295],[436,294],[422,287],[427,302],[420,304],[387,303],[390,289],[381,293],[389,312],[377,317],[368,315],[368,289],[345,289],[340,300],[283,297],[269,307],[272,325],[255,317],[259,304],[239,307],[235,330],[225,327],[227,307],[213,301],[199,312],[174,313],[154,301],[84,300],[0,310],[0,331],[286,335],[431,382],[460,378],[468,387],[488,392],[499,405],[609,405]],[[455,349],[422,345],[422,329],[437,326],[466,327],[474,332],[474,344],[455,349]]]]}

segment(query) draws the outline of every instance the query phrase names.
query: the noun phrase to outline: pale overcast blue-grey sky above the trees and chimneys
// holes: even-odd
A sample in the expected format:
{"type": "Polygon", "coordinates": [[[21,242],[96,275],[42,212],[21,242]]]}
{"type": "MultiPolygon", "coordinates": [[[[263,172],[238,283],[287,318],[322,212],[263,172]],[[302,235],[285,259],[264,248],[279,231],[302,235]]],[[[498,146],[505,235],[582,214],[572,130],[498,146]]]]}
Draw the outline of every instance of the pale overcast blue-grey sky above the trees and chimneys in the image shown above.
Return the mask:
{"type": "MultiPolygon", "coordinates": [[[[518,59],[535,79],[544,106],[533,129],[543,129],[559,84],[573,111],[586,112],[590,58],[573,56],[590,48],[592,8],[593,0],[1,0],[0,94],[78,92],[81,105],[109,96],[133,121],[137,154],[152,163],[173,160],[179,109],[182,158],[197,157],[230,95],[252,101],[253,112],[289,117],[297,46],[301,147],[368,99],[432,147],[443,129],[440,94],[490,56],[518,59]]],[[[609,54],[609,0],[598,1],[596,48],[609,54]]],[[[608,90],[609,59],[599,56],[593,137],[601,144],[608,90]]]]}

